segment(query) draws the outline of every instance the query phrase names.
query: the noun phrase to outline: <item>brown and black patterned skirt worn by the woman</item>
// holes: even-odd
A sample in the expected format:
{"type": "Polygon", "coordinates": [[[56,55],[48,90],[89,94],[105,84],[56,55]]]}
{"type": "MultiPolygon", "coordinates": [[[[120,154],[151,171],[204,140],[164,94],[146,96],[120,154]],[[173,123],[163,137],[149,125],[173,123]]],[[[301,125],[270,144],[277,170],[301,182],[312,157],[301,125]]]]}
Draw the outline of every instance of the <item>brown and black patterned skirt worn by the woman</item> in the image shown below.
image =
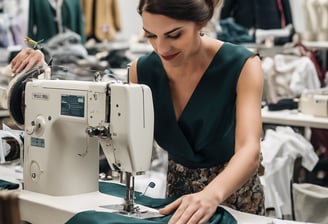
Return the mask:
{"type": "MultiPolygon", "coordinates": [[[[179,196],[201,191],[225,165],[211,168],[190,169],[173,160],[168,162],[166,196],[179,196]]],[[[241,212],[265,215],[264,193],[258,173],[255,173],[237,192],[222,205],[241,212]]]]}

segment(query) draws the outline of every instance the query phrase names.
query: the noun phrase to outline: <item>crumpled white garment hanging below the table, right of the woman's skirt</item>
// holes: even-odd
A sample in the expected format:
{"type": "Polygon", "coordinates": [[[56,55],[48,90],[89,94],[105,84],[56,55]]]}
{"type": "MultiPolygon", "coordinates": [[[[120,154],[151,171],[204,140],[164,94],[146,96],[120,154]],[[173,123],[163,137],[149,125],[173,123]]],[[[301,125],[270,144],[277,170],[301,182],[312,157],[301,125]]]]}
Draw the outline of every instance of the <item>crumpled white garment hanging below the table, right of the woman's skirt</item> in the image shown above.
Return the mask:
{"type": "Polygon", "coordinates": [[[261,142],[262,164],[265,168],[261,177],[264,186],[265,207],[274,208],[276,217],[292,215],[291,188],[294,162],[302,158],[302,165],[312,170],[319,158],[313,146],[290,127],[268,129],[261,142]]]}

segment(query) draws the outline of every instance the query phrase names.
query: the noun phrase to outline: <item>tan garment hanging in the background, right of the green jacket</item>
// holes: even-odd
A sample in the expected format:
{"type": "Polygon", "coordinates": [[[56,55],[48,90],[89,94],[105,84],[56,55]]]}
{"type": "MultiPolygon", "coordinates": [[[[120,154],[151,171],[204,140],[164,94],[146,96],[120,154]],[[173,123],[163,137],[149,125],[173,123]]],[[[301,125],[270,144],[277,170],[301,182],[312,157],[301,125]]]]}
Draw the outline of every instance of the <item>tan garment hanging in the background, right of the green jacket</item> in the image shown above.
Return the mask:
{"type": "Polygon", "coordinates": [[[81,0],[87,38],[113,40],[121,30],[117,0],[81,0]]]}

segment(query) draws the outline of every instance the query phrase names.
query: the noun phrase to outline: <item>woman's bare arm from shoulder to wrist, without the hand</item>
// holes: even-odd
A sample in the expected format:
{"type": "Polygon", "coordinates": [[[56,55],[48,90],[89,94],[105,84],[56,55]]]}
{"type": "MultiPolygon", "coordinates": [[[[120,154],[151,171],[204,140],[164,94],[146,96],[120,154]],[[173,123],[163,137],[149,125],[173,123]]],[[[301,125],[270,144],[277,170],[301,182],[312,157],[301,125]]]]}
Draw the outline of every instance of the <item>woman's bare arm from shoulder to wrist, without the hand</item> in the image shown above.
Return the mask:
{"type": "Polygon", "coordinates": [[[249,58],[237,85],[235,153],[227,167],[205,189],[222,203],[256,171],[260,163],[263,75],[258,57],[249,58]]]}

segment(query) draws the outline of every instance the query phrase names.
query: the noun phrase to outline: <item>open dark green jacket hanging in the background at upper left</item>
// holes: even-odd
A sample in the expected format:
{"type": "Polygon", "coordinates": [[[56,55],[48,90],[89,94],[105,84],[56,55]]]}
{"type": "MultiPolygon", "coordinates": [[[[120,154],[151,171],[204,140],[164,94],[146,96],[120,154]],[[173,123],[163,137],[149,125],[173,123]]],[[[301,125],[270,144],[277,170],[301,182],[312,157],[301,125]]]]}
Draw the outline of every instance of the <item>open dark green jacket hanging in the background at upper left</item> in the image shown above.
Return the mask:
{"type": "MultiPolygon", "coordinates": [[[[58,34],[55,10],[49,1],[30,0],[28,36],[33,40],[44,42],[58,34]]],[[[79,34],[85,42],[84,21],[80,0],[64,0],[62,5],[63,27],[79,34]]]]}

